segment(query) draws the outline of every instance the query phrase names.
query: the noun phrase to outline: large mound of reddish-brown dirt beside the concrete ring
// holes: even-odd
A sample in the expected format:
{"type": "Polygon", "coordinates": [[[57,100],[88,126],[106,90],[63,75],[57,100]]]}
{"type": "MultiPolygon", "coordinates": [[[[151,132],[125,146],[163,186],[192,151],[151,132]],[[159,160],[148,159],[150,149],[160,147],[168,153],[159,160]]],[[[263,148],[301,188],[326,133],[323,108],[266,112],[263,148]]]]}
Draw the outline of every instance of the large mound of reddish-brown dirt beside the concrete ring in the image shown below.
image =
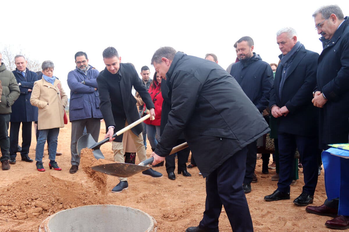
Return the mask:
{"type": "Polygon", "coordinates": [[[103,203],[97,191],[49,173],[24,177],[0,190],[0,212],[13,219],[49,216],[63,209],[103,203]]]}

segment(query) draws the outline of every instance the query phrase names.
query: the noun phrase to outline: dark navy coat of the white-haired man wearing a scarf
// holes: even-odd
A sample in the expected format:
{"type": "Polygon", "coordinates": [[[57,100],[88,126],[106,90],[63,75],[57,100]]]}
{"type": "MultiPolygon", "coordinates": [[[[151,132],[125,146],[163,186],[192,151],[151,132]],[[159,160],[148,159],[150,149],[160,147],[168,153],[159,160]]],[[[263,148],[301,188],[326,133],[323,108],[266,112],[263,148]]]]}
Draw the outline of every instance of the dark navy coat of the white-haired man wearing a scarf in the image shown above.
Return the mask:
{"type": "MultiPolygon", "coordinates": [[[[282,55],[279,56],[280,59],[281,57],[282,55]]],[[[283,66],[281,63],[277,66],[269,105],[277,105],[280,108],[286,106],[290,111],[286,117],[277,118],[279,133],[318,135],[318,109],[311,102],[316,85],[318,57],[319,54],[306,50],[304,45],[299,49],[288,67],[282,96],[279,96],[279,86],[283,66]]]]}

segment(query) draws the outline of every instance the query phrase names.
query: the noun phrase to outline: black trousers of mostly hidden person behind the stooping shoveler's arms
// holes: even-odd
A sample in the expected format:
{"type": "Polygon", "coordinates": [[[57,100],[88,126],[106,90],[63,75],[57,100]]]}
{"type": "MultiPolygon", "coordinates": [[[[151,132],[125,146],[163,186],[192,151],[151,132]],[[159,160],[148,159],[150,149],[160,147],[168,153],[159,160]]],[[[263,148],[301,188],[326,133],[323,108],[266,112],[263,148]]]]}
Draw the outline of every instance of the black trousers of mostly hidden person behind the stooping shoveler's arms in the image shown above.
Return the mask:
{"type": "MultiPolygon", "coordinates": [[[[176,145],[179,145],[182,143],[185,143],[185,139],[178,139],[176,145]]],[[[187,157],[188,151],[189,151],[189,147],[177,152],[177,158],[178,158],[177,170],[178,171],[182,171],[182,170],[186,171],[187,170],[186,161],[188,159],[188,157],[187,157]]],[[[175,154],[168,155],[165,158],[165,161],[166,161],[165,167],[166,167],[167,173],[174,172],[174,168],[176,168],[176,162],[174,161],[174,155],[175,154]]]]}

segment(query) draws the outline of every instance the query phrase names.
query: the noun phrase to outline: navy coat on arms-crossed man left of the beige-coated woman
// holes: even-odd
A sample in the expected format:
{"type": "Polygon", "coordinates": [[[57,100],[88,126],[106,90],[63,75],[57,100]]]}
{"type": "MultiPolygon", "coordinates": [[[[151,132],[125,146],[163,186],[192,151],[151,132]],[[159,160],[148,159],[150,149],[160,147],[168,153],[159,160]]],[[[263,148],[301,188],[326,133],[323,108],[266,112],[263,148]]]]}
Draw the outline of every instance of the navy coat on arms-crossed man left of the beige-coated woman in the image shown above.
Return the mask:
{"type": "Polygon", "coordinates": [[[31,92],[28,89],[33,89],[34,82],[38,80],[38,75],[35,72],[27,69],[25,78],[21,73],[17,73],[17,69],[12,71],[15,75],[17,83],[21,83],[20,96],[12,105],[12,113],[10,122],[34,122],[38,120],[38,107],[30,104],[31,92]]]}

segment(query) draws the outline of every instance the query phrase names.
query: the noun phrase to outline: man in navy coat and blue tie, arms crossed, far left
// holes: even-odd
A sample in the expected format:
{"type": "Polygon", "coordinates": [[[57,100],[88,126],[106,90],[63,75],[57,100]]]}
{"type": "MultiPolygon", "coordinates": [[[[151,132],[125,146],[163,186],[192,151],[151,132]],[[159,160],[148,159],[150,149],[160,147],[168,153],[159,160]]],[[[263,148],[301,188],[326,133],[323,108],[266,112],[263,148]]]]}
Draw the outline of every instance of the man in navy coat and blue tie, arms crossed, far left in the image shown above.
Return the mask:
{"type": "Polygon", "coordinates": [[[33,162],[29,158],[29,147],[31,144],[31,125],[38,120],[38,108],[30,104],[31,91],[34,82],[38,80],[35,72],[27,69],[27,61],[23,55],[15,56],[16,70],[12,71],[20,88],[20,96],[12,106],[10,118],[10,160],[16,163],[16,152],[18,148],[18,134],[22,123],[22,160],[33,162]]]}

